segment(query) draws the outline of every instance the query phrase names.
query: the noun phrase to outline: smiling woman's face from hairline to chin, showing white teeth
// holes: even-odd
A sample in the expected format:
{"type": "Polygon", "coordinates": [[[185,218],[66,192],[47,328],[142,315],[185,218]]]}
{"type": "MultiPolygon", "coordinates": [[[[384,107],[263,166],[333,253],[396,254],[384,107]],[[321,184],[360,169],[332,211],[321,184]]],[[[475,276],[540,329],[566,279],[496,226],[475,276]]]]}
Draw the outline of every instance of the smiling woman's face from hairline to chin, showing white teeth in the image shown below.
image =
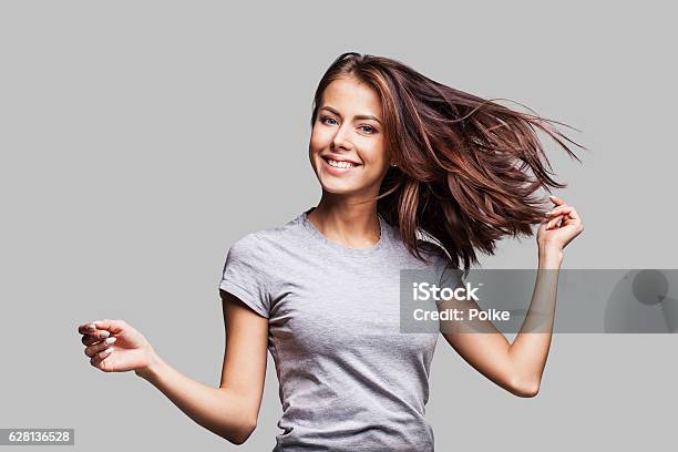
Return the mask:
{"type": "Polygon", "coordinates": [[[331,82],[322,93],[311,131],[309,157],[323,191],[379,194],[390,165],[381,101],[355,78],[331,82]]]}

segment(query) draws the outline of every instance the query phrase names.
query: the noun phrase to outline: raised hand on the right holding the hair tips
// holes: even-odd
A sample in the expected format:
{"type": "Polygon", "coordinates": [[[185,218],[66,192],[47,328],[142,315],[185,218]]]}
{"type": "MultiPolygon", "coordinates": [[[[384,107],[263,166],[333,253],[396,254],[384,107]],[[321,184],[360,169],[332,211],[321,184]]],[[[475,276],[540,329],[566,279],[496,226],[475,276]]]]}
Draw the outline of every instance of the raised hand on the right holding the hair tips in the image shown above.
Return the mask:
{"type": "Polygon", "coordinates": [[[556,206],[546,214],[546,220],[540,225],[537,245],[540,249],[563,250],[568,243],[582,234],[584,224],[577,210],[565,204],[564,199],[556,196],[549,196],[549,198],[556,206]]]}

